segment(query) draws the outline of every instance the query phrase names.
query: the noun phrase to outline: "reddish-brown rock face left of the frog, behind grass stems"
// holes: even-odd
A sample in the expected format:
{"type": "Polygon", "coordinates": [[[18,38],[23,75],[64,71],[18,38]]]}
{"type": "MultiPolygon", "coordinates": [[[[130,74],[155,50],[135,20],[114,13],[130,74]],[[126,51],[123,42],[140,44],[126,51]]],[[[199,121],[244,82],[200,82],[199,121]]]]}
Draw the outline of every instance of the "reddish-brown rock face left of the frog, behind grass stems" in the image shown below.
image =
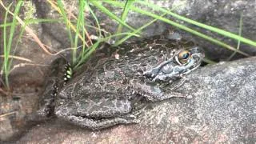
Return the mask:
{"type": "MultiPolygon", "coordinates": [[[[17,2],[5,0],[2,1],[4,6],[14,12],[17,2]]],[[[0,23],[4,22],[6,10],[0,6],[0,23]]],[[[24,20],[37,19],[35,14],[35,6],[32,1],[23,2],[23,6],[19,13],[19,18],[24,20]]],[[[7,22],[12,22],[12,16],[9,14],[7,22]]],[[[46,36],[42,34],[41,26],[36,24],[27,25],[33,30],[34,34],[41,40],[46,36]]],[[[10,26],[7,26],[7,36],[9,38],[10,26]]],[[[37,42],[32,40],[30,34],[24,32],[22,38],[18,42],[21,32],[21,26],[15,28],[14,38],[10,50],[10,55],[24,58],[14,58],[10,67],[10,91],[7,94],[6,87],[3,85],[4,78],[0,72],[0,141],[13,138],[17,134],[21,134],[26,124],[26,115],[33,113],[38,105],[38,91],[44,80],[44,70],[47,64],[54,58],[46,54],[37,42]],[[17,47],[16,43],[18,42],[17,47]],[[14,68],[14,69],[13,69],[14,68]],[[5,91],[2,93],[2,91],[5,91]]],[[[49,38],[49,37],[48,37],[49,38]]],[[[0,55],[3,54],[3,29],[0,30],[0,55]]],[[[46,39],[44,39],[46,40],[46,39]]],[[[52,46],[49,42],[44,42],[47,46],[52,46]]],[[[0,66],[2,66],[3,58],[0,58],[0,66]]],[[[1,70],[0,70],[1,71],[1,70]]],[[[1,143],[1,142],[0,142],[1,143]]]]}

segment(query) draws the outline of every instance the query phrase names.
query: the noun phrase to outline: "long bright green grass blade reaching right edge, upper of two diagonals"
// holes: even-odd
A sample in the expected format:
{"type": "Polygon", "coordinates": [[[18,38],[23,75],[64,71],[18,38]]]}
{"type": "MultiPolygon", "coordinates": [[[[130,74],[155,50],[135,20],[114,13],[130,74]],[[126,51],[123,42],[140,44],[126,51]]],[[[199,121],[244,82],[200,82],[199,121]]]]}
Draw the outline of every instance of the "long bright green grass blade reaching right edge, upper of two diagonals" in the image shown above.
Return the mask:
{"type": "MultiPolygon", "coordinates": [[[[157,6],[157,5],[155,5],[155,4],[151,3],[151,2],[145,2],[145,1],[137,1],[137,2],[142,4],[142,5],[144,5],[144,6],[149,6],[150,8],[152,8],[154,10],[161,10],[162,12],[168,12],[168,10],[166,10],[166,9],[160,7],[160,6],[157,6]]],[[[239,36],[237,34],[232,34],[232,33],[228,32],[226,30],[221,30],[221,29],[218,29],[218,28],[213,27],[213,26],[208,26],[206,24],[203,24],[203,23],[200,23],[200,22],[196,22],[196,21],[191,20],[189,18],[182,17],[181,15],[174,14],[173,12],[170,12],[170,11],[168,12],[168,14],[170,14],[174,18],[181,19],[184,22],[191,23],[191,24],[193,24],[195,26],[200,26],[200,27],[202,27],[202,28],[204,28],[206,30],[214,31],[214,32],[216,32],[218,34],[222,34],[222,35],[224,35],[226,37],[233,38],[235,40],[239,40],[239,41],[244,42],[246,44],[249,44],[251,46],[256,46],[256,42],[254,42],[254,41],[252,41],[250,39],[247,39],[247,38],[243,38],[243,37],[241,37],[241,36],[239,36]]]]}

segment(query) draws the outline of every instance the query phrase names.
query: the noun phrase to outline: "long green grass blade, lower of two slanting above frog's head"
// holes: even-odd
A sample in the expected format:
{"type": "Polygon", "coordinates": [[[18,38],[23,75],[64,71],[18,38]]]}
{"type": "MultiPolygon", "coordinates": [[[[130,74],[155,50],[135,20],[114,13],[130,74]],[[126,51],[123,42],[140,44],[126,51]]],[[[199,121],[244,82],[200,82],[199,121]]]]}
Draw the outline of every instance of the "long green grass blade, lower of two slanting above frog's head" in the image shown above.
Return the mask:
{"type": "MultiPolygon", "coordinates": [[[[114,6],[120,6],[120,7],[124,6],[121,2],[115,2],[115,1],[104,1],[104,2],[110,3],[110,4],[114,5],[114,6]]],[[[214,42],[214,43],[218,44],[219,46],[223,46],[223,47],[225,47],[226,49],[236,51],[236,52],[238,52],[239,54],[243,54],[243,55],[245,55],[245,56],[250,56],[249,54],[246,54],[246,53],[242,52],[241,50],[237,50],[237,49],[235,49],[234,47],[229,46],[229,45],[227,45],[227,44],[224,43],[224,42],[220,42],[220,41],[218,41],[217,39],[211,38],[211,37],[207,36],[206,34],[202,34],[202,33],[198,32],[198,31],[196,31],[196,30],[192,30],[192,29],[190,29],[189,27],[183,26],[183,25],[181,25],[181,24],[179,24],[179,23],[177,23],[177,22],[170,21],[170,20],[167,19],[167,18],[162,18],[162,17],[160,17],[160,16],[157,15],[157,14],[150,13],[150,12],[148,12],[148,11],[146,11],[146,10],[139,9],[139,8],[137,8],[137,7],[134,7],[134,6],[131,6],[131,7],[130,7],[130,10],[134,10],[134,11],[140,13],[140,14],[145,14],[145,15],[148,15],[148,16],[153,17],[153,18],[158,18],[158,19],[161,20],[162,22],[166,22],[166,23],[168,23],[168,24],[170,24],[170,25],[172,25],[172,26],[178,27],[179,29],[186,30],[187,32],[190,32],[191,34],[197,35],[197,36],[199,36],[199,37],[201,37],[201,38],[205,38],[206,40],[208,40],[208,41],[210,41],[210,42],[214,42]]]]}

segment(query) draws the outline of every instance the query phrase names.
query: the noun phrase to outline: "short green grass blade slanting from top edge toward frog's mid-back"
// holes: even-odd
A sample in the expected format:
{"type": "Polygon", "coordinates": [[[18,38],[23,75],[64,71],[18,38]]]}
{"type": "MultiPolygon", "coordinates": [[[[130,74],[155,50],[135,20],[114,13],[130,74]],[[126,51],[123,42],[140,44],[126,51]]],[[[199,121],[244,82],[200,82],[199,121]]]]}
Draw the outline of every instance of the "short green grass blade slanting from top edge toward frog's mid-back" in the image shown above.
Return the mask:
{"type": "MultiPolygon", "coordinates": [[[[121,23],[123,26],[126,26],[130,30],[135,30],[131,26],[127,25],[126,22],[123,22],[122,19],[118,18],[115,14],[111,13],[110,10],[106,9],[106,7],[102,6],[102,4],[99,1],[95,0],[89,0],[90,3],[92,3],[94,6],[96,6],[99,10],[102,10],[102,12],[106,15],[108,15],[110,18],[114,19],[115,21],[121,23]]],[[[108,1],[103,1],[108,2],[108,1]]]]}

